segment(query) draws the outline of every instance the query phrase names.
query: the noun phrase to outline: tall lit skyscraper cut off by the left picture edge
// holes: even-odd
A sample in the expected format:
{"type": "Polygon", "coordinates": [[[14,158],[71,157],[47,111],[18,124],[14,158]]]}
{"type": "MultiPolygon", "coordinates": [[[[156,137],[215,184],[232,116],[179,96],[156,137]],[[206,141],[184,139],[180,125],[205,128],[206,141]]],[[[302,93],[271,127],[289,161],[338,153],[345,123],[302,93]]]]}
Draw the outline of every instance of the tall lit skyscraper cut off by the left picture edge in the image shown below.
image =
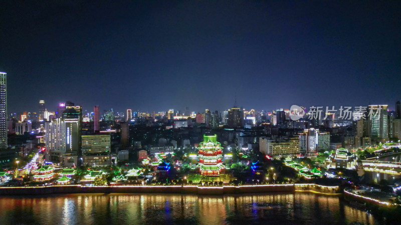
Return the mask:
{"type": "Polygon", "coordinates": [[[7,148],[7,73],[0,72],[0,148],[7,148]]]}

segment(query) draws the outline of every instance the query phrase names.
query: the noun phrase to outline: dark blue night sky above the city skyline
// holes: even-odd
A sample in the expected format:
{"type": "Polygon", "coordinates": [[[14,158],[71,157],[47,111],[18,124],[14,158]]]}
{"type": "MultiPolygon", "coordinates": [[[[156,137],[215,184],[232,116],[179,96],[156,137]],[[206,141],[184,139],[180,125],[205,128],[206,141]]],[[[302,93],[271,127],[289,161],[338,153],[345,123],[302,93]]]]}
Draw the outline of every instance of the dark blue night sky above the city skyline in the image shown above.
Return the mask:
{"type": "Polygon", "coordinates": [[[401,99],[401,1],[99,2],[1,1],[9,112],[401,99]]]}

